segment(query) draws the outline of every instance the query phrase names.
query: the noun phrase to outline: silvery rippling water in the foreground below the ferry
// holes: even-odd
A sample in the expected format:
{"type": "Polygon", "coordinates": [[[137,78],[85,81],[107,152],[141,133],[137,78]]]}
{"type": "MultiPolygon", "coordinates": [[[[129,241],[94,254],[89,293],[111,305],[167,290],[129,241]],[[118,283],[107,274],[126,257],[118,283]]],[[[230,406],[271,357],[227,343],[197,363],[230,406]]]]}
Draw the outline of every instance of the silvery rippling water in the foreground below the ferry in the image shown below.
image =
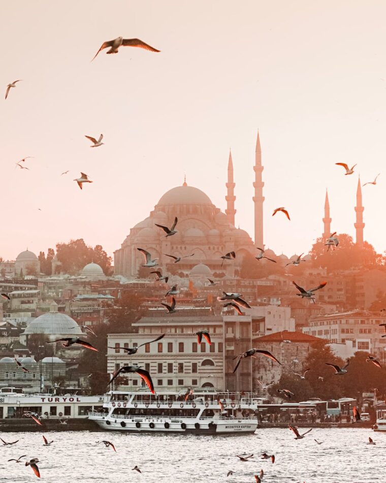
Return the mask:
{"type": "MultiPolygon", "coordinates": [[[[306,430],[304,430],[306,431],[306,430]]],[[[300,431],[301,433],[303,430],[300,431]]],[[[386,481],[383,455],[386,432],[369,429],[314,428],[296,441],[289,429],[260,429],[255,435],[194,436],[115,432],[48,432],[51,446],[43,446],[43,433],[2,433],[13,446],[0,447],[0,482],[39,481],[24,463],[7,462],[27,454],[37,457],[41,481],[48,483],[226,482],[253,483],[264,469],[263,483],[375,483],[386,481]],[[368,437],[376,445],[367,445],[368,437]],[[316,444],[324,441],[323,444],[316,444]],[[111,441],[117,453],[95,441],[111,441]],[[263,452],[275,454],[261,460],[263,452]],[[243,463],[235,455],[253,453],[243,463]],[[142,474],[132,471],[138,465],[142,474]],[[227,478],[229,470],[233,476],[227,478]]]]}

